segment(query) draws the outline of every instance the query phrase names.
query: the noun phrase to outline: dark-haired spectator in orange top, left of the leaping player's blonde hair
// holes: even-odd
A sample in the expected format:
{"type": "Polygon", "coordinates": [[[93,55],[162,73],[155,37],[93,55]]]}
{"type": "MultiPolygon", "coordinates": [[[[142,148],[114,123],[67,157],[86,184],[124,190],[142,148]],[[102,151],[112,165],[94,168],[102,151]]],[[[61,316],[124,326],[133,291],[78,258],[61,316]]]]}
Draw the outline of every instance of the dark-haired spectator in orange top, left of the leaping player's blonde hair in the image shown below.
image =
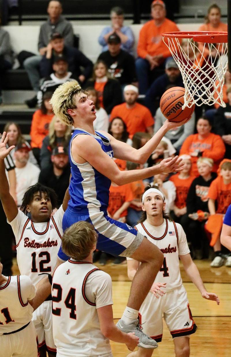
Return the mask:
{"type": "Polygon", "coordinates": [[[41,109],[34,112],[31,128],[30,128],[30,145],[33,154],[38,162],[40,162],[40,149],[43,144],[43,139],[49,132],[49,124],[54,116],[50,99],[53,93],[45,92],[41,104],[41,109]]]}

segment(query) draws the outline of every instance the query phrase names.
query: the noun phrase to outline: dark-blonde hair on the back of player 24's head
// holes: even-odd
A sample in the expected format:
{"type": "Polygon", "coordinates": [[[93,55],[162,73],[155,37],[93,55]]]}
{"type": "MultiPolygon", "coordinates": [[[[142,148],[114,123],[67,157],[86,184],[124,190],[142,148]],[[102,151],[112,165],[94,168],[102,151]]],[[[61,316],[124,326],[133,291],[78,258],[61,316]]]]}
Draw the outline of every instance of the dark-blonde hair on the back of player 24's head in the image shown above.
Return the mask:
{"type": "Polygon", "coordinates": [[[67,228],[62,238],[62,249],[74,260],[84,260],[97,242],[98,235],[93,225],[79,221],[67,228]]]}

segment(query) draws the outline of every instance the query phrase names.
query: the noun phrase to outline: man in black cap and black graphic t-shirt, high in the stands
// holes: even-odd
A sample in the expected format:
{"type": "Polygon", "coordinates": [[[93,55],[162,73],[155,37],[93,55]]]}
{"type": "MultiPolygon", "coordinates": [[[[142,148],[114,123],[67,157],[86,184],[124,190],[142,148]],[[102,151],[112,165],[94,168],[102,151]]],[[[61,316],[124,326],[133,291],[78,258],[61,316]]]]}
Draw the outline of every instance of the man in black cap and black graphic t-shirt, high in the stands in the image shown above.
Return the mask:
{"type": "Polygon", "coordinates": [[[117,79],[122,86],[136,83],[134,57],[121,49],[121,38],[116,32],[108,37],[108,51],[102,52],[98,60],[103,60],[107,64],[112,78],[117,79]]]}

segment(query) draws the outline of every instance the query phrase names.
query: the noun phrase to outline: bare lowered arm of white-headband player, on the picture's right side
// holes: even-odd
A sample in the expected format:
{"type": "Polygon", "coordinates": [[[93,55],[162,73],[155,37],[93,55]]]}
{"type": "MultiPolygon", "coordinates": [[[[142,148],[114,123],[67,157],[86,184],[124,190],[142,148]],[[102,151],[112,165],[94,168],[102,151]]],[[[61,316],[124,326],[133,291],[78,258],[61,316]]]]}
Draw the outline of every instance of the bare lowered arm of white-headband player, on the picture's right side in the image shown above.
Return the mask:
{"type": "Polygon", "coordinates": [[[180,255],[180,258],[187,275],[190,277],[193,284],[196,285],[197,289],[201,293],[201,296],[207,300],[216,301],[217,305],[219,305],[220,300],[218,296],[215,293],[207,292],[205,285],[203,284],[203,281],[201,279],[200,273],[197,269],[197,266],[192,261],[191,255],[189,253],[186,255],[180,255]]]}

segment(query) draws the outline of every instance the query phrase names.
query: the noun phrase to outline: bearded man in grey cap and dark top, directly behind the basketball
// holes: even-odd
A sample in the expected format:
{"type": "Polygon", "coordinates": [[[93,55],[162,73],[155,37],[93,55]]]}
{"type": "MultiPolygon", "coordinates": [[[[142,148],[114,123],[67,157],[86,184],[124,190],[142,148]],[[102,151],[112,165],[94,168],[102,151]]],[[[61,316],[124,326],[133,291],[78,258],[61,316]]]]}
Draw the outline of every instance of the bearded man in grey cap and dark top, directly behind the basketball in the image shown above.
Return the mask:
{"type": "Polygon", "coordinates": [[[181,72],[172,57],[166,61],[165,73],[154,80],[146,93],[144,104],[153,116],[159,107],[159,99],[170,85],[173,87],[184,87],[181,72]]]}

